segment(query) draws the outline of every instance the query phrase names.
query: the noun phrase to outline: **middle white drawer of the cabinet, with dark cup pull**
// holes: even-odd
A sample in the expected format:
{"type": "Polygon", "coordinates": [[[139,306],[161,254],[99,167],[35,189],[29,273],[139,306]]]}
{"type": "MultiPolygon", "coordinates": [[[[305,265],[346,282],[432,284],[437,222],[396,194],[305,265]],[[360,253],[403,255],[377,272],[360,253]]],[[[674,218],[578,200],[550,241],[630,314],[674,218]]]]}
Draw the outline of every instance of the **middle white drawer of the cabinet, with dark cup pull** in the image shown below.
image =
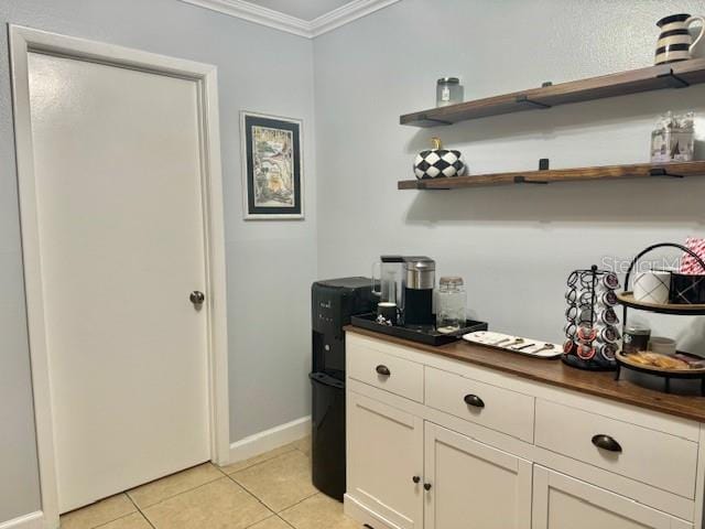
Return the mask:
{"type": "Polygon", "coordinates": [[[425,386],[427,406],[533,442],[533,397],[431,367],[425,386]]]}

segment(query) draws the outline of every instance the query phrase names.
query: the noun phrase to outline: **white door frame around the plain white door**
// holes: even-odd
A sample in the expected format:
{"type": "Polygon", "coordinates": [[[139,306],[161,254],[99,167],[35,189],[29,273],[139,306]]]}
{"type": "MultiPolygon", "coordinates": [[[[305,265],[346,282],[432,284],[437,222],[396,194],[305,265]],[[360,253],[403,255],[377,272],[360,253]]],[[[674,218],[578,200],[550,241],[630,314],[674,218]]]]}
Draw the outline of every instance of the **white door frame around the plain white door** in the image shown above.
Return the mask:
{"type": "Polygon", "coordinates": [[[210,458],[229,460],[228,338],[225,228],[216,66],[172,58],[112,44],[9,25],[12,104],[18,164],[20,224],[24,260],[28,332],[32,366],[34,422],[40,466],[42,511],[46,527],[58,527],[54,428],[46,348],[37,204],[29,97],[28,54],[59,55],[82,61],[194,80],[198,85],[202,196],[206,244],[206,304],[210,458]]]}

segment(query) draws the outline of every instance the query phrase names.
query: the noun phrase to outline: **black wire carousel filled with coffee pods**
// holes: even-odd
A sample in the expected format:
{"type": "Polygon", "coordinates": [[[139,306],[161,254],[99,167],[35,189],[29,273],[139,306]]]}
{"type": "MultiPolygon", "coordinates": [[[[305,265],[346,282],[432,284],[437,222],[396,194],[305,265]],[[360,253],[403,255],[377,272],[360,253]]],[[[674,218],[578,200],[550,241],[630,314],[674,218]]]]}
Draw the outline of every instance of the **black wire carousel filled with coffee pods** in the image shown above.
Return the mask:
{"type": "Polygon", "coordinates": [[[619,279],[593,264],[567,279],[565,343],[561,359],[578,369],[614,371],[621,337],[615,312],[619,279]]]}

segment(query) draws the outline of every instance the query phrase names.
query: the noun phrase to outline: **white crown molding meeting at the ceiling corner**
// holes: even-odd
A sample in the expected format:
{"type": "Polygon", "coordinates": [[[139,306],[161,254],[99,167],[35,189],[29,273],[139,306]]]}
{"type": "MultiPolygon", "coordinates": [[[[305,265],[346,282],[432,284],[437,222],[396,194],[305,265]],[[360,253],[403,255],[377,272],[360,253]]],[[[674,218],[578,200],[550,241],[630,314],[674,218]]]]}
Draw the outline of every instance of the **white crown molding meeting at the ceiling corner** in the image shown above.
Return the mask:
{"type": "Polygon", "coordinates": [[[312,21],[262,8],[246,0],[181,0],[182,2],[254,22],[294,35],[313,39],[349,24],[400,0],[354,0],[312,21]]]}

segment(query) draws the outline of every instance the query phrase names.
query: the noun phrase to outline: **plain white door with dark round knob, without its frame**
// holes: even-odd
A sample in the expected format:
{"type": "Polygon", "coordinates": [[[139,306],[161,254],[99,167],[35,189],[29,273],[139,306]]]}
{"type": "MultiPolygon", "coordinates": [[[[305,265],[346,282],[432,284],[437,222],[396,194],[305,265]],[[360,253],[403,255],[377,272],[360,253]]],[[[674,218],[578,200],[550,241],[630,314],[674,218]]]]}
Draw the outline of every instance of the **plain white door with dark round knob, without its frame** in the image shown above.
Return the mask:
{"type": "Polygon", "coordinates": [[[210,458],[198,85],[29,54],[62,512],[210,458]]]}

